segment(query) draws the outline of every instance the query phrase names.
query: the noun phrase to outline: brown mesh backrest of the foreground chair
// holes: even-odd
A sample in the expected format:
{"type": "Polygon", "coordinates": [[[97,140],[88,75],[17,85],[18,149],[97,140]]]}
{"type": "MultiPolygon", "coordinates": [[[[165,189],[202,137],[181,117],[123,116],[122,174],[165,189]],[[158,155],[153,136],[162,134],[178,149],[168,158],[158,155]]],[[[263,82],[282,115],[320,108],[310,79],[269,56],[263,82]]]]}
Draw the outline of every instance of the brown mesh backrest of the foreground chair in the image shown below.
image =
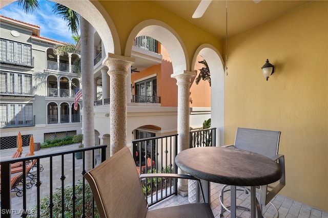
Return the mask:
{"type": "Polygon", "coordinates": [[[147,203],[130,149],[124,147],[84,176],[100,217],[146,217],[147,203]]]}

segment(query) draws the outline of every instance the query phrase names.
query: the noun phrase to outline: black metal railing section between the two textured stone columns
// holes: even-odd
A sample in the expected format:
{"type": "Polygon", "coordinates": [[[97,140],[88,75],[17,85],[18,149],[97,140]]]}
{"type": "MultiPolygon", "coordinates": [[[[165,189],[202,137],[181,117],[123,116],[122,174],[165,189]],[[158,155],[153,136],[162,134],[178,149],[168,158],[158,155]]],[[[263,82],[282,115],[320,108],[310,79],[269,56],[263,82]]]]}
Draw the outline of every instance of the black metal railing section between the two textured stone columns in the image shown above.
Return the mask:
{"type": "MultiPolygon", "coordinates": [[[[132,141],[132,155],[137,171],[141,173],[177,173],[177,134],[132,141]]],[[[144,184],[149,206],[177,194],[177,180],[147,179],[144,184]]]]}

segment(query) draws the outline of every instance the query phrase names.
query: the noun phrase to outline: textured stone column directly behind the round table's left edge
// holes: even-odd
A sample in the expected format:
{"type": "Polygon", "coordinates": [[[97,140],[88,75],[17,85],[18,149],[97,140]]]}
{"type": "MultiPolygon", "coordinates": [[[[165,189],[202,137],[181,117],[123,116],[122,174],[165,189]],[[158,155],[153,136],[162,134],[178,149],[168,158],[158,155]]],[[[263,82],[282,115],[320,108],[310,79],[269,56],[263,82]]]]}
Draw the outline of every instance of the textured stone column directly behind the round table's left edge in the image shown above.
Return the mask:
{"type": "MultiPolygon", "coordinates": [[[[189,93],[190,79],[195,72],[185,71],[182,74],[173,74],[178,86],[178,153],[189,148],[189,93]]],[[[185,174],[180,168],[178,173],[185,174]]],[[[188,181],[178,180],[178,192],[183,197],[188,195],[188,181]]]]}

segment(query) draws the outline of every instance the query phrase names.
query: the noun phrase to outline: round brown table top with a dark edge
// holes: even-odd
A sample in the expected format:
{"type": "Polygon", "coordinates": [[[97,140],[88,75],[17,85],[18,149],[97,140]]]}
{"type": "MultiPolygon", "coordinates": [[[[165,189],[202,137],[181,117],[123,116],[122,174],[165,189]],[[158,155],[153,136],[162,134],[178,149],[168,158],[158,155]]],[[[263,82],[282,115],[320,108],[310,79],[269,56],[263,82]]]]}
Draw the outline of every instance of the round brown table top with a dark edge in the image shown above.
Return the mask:
{"type": "Polygon", "coordinates": [[[280,166],[270,158],[237,148],[189,148],[179,152],[175,163],[198,179],[227,185],[267,185],[282,176],[280,166]]]}

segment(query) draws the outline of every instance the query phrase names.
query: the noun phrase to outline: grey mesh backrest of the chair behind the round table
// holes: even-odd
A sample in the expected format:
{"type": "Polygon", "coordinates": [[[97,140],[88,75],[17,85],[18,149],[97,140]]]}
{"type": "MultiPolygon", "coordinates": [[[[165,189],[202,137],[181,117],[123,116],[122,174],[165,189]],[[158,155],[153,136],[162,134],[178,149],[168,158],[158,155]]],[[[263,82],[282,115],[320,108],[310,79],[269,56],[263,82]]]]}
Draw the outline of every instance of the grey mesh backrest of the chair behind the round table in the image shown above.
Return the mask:
{"type": "Polygon", "coordinates": [[[280,131],[238,127],[234,147],[269,158],[278,154],[280,131]]]}

